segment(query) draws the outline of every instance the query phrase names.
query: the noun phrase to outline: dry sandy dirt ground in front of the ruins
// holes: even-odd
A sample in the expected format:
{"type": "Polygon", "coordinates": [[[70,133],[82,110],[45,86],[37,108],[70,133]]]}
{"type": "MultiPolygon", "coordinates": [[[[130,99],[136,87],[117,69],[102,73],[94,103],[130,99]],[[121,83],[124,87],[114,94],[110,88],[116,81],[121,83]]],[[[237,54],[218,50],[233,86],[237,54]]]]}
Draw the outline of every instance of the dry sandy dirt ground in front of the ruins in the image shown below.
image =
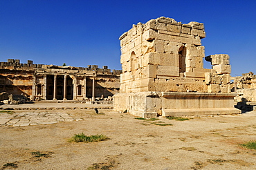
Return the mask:
{"type": "Polygon", "coordinates": [[[256,150],[239,146],[256,140],[256,112],[177,121],[107,109],[55,111],[82,121],[0,127],[0,169],[256,169],[256,150]],[[77,133],[109,139],[67,142],[77,133]]]}

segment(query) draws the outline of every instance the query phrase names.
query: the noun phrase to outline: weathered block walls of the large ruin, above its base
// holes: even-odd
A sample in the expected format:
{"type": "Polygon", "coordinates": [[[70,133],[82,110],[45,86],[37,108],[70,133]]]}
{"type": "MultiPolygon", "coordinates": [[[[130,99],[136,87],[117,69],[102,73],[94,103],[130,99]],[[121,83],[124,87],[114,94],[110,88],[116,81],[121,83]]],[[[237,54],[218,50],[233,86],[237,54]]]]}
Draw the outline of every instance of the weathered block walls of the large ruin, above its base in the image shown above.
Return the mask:
{"type": "Polygon", "coordinates": [[[182,24],[161,17],[138,23],[120,37],[120,93],[140,91],[200,91],[229,93],[228,55],[211,55],[212,70],[203,68],[203,23],[182,24]],[[208,75],[205,75],[208,73],[208,75]],[[221,75],[221,76],[219,76],[221,75]],[[209,77],[223,79],[214,82],[209,77]],[[221,86],[220,86],[221,85],[221,86]]]}

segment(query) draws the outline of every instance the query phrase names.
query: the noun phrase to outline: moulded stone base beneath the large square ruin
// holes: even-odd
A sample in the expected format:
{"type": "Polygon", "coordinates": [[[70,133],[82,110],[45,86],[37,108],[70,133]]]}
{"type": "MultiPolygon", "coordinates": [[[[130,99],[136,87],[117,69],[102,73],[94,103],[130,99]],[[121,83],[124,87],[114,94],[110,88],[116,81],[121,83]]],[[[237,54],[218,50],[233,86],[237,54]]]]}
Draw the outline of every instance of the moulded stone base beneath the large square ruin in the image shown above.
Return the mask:
{"type": "Polygon", "coordinates": [[[114,96],[113,109],[140,117],[239,114],[235,93],[140,92],[114,96]]]}

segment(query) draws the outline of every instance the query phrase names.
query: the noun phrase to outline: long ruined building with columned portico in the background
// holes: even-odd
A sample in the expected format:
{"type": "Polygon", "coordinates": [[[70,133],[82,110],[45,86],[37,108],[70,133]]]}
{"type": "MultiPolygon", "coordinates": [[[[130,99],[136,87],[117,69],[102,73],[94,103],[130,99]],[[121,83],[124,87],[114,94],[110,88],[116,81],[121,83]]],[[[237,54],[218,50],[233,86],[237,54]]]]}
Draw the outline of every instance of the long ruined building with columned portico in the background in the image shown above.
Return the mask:
{"type": "Polygon", "coordinates": [[[0,62],[0,93],[23,93],[33,100],[94,100],[118,93],[120,73],[107,66],[53,66],[30,60],[21,64],[19,59],[8,59],[0,62]]]}

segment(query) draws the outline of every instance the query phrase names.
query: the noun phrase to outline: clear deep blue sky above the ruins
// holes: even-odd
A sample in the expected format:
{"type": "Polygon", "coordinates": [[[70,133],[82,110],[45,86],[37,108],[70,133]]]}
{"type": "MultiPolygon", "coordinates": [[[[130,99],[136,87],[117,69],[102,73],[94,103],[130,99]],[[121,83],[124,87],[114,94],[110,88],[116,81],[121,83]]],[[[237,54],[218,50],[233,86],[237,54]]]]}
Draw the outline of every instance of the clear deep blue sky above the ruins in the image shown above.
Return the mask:
{"type": "Polygon", "coordinates": [[[205,56],[230,55],[232,76],[256,74],[255,9],[255,0],[0,0],[0,62],[121,69],[120,35],[164,16],[204,23],[205,56]]]}

